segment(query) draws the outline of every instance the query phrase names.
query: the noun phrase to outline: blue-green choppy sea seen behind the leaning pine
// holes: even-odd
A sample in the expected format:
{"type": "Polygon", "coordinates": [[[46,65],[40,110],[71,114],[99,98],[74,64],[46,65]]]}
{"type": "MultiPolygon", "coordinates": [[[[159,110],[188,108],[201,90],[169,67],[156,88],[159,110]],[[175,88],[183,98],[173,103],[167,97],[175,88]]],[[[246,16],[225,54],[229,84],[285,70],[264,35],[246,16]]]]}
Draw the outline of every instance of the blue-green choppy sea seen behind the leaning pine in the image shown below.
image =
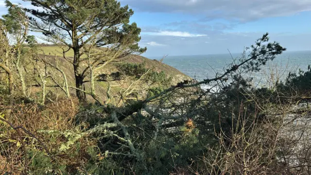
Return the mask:
{"type": "MultiPolygon", "coordinates": [[[[163,63],[170,65],[197,81],[214,78],[228,68],[227,65],[241,58],[242,53],[166,56],[163,63]]],[[[162,56],[149,57],[160,60],[162,56]]],[[[268,61],[259,72],[248,72],[243,76],[252,77],[256,87],[272,87],[276,81],[284,81],[289,72],[308,70],[311,65],[311,51],[285,51],[268,61]]],[[[207,89],[209,86],[203,85],[207,89]]]]}

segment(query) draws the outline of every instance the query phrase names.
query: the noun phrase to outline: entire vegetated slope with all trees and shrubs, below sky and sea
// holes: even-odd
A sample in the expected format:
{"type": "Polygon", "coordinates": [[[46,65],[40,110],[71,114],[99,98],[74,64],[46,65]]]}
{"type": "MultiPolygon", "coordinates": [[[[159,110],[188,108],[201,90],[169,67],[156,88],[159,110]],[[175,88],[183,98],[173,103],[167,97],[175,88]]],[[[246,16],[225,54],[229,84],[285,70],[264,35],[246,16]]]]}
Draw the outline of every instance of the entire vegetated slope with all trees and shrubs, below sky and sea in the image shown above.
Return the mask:
{"type": "Polygon", "coordinates": [[[0,20],[0,174],[310,174],[311,70],[252,86],[286,50],[268,34],[215,77],[178,82],[135,56],[146,48],[127,6],[30,1],[45,11],[6,1],[0,20]]]}

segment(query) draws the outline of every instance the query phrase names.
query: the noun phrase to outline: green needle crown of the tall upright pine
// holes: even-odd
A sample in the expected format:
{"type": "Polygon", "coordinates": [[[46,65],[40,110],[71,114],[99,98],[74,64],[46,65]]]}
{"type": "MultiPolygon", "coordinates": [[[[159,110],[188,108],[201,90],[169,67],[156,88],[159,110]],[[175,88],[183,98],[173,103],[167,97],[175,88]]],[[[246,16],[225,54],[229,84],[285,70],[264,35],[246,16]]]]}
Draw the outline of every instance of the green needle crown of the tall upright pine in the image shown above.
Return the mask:
{"type": "MultiPolygon", "coordinates": [[[[72,32],[82,35],[69,35],[73,40],[84,40],[84,44],[88,44],[90,35],[94,37],[98,47],[107,46],[109,44],[120,43],[126,45],[131,52],[143,53],[146,48],[139,48],[140,29],[136,23],[129,24],[129,18],[134,14],[128,6],[121,7],[120,2],[116,0],[26,0],[30,1],[36,7],[42,7],[45,11],[36,9],[26,9],[32,14],[30,20],[36,28],[42,31],[46,36],[55,38],[55,36],[72,32]],[[38,20],[38,18],[41,19],[38,20]],[[44,28],[44,24],[50,26],[49,30],[44,28]],[[74,27],[74,26],[79,27],[74,27]],[[121,29],[119,29],[121,25],[121,29]],[[98,32],[100,31],[100,32],[98,32]]],[[[93,38],[93,37],[92,37],[93,38]]],[[[75,43],[68,43],[65,40],[60,42],[71,46],[75,49],[75,43]]],[[[76,43],[79,44],[79,43],[76,43]]]]}

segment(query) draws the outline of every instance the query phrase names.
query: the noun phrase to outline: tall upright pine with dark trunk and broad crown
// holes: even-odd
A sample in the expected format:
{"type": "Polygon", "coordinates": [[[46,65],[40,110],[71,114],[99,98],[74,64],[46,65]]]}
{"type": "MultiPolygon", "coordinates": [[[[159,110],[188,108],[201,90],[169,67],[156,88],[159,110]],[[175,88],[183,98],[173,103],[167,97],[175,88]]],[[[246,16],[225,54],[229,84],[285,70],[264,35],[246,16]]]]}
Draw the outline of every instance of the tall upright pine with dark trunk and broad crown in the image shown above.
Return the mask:
{"type": "MultiPolygon", "coordinates": [[[[121,7],[117,0],[24,0],[30,1],[34,9],[25,9],[33,31],[42,32],[46,40],[66,46],[65,53],[73,50],[73,65],[77,97],[84,101],[84,79],[92,70],[98,70],[111,62],[129,54],[141,54],[140,28],[129,24],[133,11],[128,6],[121,7]],[[44,10],[35,10],[37,7],[44,10]],[[105,54],[90,53],[89,48],[106,51],[105,54]],[[86,53],[88,58],[85,58],[86,53]],[[96,58],[89,61],[89,55],[96,58]]],[[[94,73],[94,72],[93,72],[94,73]]]]}

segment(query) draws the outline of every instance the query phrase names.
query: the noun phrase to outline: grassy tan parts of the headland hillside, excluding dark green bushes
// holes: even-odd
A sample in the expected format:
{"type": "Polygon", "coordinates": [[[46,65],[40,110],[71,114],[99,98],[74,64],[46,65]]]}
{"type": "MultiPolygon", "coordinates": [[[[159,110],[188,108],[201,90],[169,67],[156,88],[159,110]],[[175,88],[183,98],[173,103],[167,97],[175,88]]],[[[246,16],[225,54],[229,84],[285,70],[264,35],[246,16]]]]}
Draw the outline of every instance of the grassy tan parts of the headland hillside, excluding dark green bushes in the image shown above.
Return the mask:
{"type": "MultiPolygon", "coordinates": [[[[42,48],[42,53],[40,53],[40,54],[43,54],[43,52],[44,52],[46,55],[50,55],[49,57],[51,57],[51,59],[54,59],[54,57],[56,56],[60,60],[61,64],[59,64],[59,65],[60,65],[61,69],[66,72],[66,74],[68,76],[68,80],[69,80],[69,85],[74,86],[75,80],[74,80],[72,65],[63,58],[63,55],[62,55],[63,50],[57,46],[41,46],[41,48],[42,48]],[[54,55],[54,56],[52,56],[52,55],[54,55]]],[[[73,56],[73,51],[69,51],[65,55],[66,55],[66,57],[71,59],[73,56]]],[[[148,59],[148,58],[143,57],[143,56],[129,55],[121,63],[134,63],[134,64],[144,63],[146,68],[155,67],[153,69],[154,71],[156,71],[156,72],[163,71],[168,78],[169,77],[171,78],[172,81],[169,82],[170,85],[175,85],[178,82],[190,79],[189,76],[185,75],[184,73],[180,72],[179,70],[177,70],[177,69],[175,69],[169,65],[166,65],[162,62],[159,62],[158,60],[148,59]]],[[[120,64],[120,63],[110,63],[106,67],[104,67],[102,70],[100,70],[100,72],[104,73],[104,74],[110,74],[113,72],[117,72],[118,71],[118,68],[117,68],[118,64],[120,64]]],[[[111,95],[113,95],[113,96],[120,95],[120,90],[122,88],[128,87],[133,81],[134,81],[133,79],[127,78],[126,80],[110,82],[110,87],[111,87],[110,93],[111,93],[111,95]]],[[[106,98],[106,90],[108,88],[108,83],[107,82],[96,82],[95,86],[97,89],[96,93],[99,94],[101,97],[106,98]]],[[[156,86],[158,87],[161,85],[156,85],[156,86]]],[[[147,89],[147,88],[152,88],[152,87],[148,87],[148,85],[145,85],[145,87],[138,87],[138,88],[147,89]]],[[[86,83],[86,90],[89,90],[89,89],[90,89],[89,83],[86,83]]],[[[73,95],[74,90],[73,89],[71,89],[71,90],[72,90],[71,92],[73,95]]],[[[51,88],[51,91],[53,93],[56,93],[57,95],[60,95],[60,94],[58,94],[57,91],[55,91],[55,88],[51,88]]],[[[147,93],[146,90],[140,90],[139,92],[141,94],[147,93]]],[[[88,97],[88,100],[92,100],[92,98],[88,97]]]]}

